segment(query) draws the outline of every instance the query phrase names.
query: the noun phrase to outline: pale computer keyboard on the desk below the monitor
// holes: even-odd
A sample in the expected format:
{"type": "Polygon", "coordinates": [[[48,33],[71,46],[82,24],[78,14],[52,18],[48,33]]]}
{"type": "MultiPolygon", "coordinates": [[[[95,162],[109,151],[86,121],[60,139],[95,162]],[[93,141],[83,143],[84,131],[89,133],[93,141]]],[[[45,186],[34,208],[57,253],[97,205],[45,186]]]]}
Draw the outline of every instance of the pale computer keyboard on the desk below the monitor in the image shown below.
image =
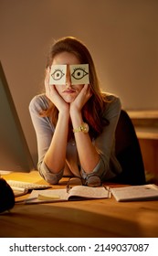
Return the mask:
{"type": "Polygon", "coordinates": [[[30,183],[30,182],[25,182],[25,181],[16,181],[16,180],[7,180],[6,181],[10,187],[13,189],[18,188],[26,188],[27,190],[32,190],[32,189],[46,189],[50,188],[51,186],[49,185],[41,185],[37,183],[30,183]]]}

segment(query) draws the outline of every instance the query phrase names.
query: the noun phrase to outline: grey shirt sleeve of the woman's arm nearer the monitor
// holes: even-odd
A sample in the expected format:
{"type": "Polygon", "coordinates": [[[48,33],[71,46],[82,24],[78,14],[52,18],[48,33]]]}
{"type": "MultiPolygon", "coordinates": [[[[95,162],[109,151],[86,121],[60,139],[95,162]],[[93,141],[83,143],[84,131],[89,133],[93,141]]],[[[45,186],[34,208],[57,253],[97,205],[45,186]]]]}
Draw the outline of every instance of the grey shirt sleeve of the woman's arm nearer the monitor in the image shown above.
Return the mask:
{"type": "MultiPolygon", "coordinates": [[[[44,161],[45,155],[50,148],[50,144],[52,143],[52,138],[55,133],[55,127],[50,122],[49,118],[47,116],[42,117],[39,114],[42,110],[47,109],[47,106],[46,96],[44,94],[37,95],[32,99],[32,101],[30,101],[29,112],[37,135],[37,169],[40,175],[43,176],[48,183],[57,184],[58,180],[63,175],[65,159],[63,160],[63,163],[61,163],[61,159],[59,158],[58,163],[61,163],[61,167],[58,166],[58,169],[60,168],[58,173],[52,172],[51,169],[48,168],[48,164],[44,161]]],[[[50,158],[53,159],[53,155],[50,155],[50,158]]]]}

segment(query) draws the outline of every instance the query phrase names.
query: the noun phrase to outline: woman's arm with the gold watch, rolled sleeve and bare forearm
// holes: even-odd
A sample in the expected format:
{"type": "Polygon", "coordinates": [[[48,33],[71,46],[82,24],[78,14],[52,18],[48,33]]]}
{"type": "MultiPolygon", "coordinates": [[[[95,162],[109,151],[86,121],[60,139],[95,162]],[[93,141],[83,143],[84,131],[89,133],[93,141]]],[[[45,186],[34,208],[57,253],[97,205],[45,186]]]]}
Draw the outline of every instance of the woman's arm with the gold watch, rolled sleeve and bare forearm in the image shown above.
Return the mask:
{"type": "MultiPolygon", "coordinates": [[[[91,142],[89,133],[75,133],[82,176],[84,177],[91,175],[113,176],[110,163],[111,152],[114,145],[115,129],[121,112],[121,101],[115,96],[111,96],[110,100],[104,116],[110,121],[110,124],[104,127],[103,132],[94,142],[91,142]]],[[[70,116],[73,127],[78,128],[83,121],[79,108],[73,108],[70,116]]],[[[121,168],[115,157],[112,161],[114,165],[117,165],[117,169],[121,168]]]]}

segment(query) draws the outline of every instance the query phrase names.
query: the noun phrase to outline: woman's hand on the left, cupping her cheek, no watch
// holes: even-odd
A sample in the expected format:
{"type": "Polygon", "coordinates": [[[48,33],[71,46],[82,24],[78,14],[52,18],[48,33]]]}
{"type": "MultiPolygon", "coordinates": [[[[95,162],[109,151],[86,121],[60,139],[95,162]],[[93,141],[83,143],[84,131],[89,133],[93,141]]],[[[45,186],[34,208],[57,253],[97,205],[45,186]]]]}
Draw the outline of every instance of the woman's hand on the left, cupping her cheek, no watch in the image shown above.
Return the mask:
{"type": "Polygon", "coordinates": [[[58,112],[68,111],[68,103],[64,101],[58,94],[54,84],[49,84],[50,68],[47,68],[46,78],[45,78],[45,90],[47,98],[52,101],[58,108],[58,112]]]}

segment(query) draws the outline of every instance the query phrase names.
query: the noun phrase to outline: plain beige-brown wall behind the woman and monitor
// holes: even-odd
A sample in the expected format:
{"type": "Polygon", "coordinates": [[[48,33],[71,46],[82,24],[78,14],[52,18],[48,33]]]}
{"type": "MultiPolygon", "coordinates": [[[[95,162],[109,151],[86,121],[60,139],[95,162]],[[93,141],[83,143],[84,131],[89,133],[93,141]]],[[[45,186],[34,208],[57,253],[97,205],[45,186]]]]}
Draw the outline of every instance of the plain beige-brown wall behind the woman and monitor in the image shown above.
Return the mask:
{"type": "Polygon", "coordinates": [[[84,41],[102,88],[123,108],[158,109],[157,14],[157,0],[0,0],[0,58],[35,159],[27,106],[43,87],[52,39],[84,41]]]}

